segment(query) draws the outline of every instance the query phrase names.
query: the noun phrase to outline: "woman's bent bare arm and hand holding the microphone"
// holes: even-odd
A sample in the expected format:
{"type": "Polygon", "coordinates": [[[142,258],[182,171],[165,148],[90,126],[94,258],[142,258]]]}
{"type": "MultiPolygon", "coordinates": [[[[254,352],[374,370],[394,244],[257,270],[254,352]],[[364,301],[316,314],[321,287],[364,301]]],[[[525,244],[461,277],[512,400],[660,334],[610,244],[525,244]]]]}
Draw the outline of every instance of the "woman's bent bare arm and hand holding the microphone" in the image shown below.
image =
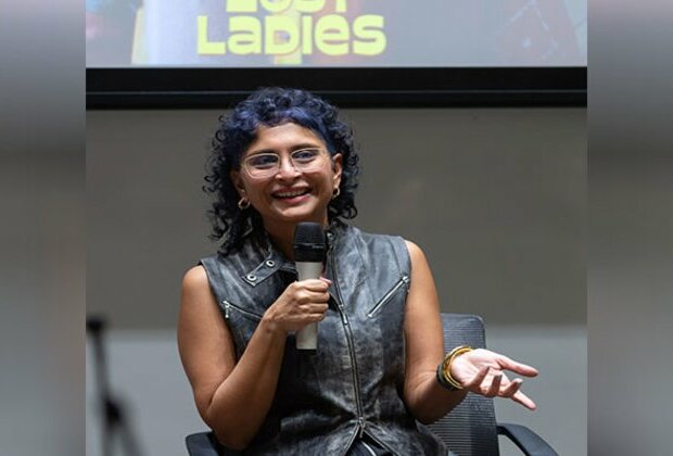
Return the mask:
{"type": "Polygon", "coordinates": [[[223,444],[242,449],[254,438],[276,394],[288,331],[322,319],[327,299],[322,280],[292,283],[267,309],[236,363],[233,341],[205,269],[196,266],[185,275],[180,358],[199,414],[223,444]]]}

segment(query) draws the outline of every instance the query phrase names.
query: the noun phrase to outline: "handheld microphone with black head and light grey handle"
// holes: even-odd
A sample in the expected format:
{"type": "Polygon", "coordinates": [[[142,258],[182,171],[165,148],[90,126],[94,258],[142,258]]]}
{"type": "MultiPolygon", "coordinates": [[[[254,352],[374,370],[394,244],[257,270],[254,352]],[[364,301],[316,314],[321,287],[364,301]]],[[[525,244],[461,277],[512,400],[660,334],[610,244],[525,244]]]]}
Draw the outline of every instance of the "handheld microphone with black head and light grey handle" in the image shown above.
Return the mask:
{"type": "MultiPolygon", "coordinates": [[[[297,279],[318,279],[322,273],[327,242],[320,224],[301,221],[294,230],[294,262],[297,279]]],[[[318,324],[312,322],[296,331],[299,350],[316,350],[318,346],[318,324]]]]}

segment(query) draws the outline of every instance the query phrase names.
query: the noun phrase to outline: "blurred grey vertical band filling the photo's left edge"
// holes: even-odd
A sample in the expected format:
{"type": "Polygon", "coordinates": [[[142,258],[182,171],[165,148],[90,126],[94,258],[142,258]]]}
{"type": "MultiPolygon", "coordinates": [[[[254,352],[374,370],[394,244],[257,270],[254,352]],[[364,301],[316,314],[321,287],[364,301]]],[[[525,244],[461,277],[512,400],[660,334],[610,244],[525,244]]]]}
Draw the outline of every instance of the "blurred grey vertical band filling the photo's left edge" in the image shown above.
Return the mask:
{"type": "Polygon", "coordinates": [[[85,453],[85,46],[76,2],[0,13],[0,453],[85,453]]]}

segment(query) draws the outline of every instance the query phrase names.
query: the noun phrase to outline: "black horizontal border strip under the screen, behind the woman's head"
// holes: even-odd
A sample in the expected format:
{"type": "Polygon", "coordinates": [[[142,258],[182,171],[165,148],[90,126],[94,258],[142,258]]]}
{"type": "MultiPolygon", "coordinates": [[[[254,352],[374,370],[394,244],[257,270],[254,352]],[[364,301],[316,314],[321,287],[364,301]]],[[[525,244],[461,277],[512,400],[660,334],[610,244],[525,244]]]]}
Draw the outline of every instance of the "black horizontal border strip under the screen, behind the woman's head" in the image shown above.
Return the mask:
{"type": "Polygon", "coordinates": [[[226,109],[264,86],[342,107],[586,106],[586,67],[87,68],[87,109],[226,109]]]}

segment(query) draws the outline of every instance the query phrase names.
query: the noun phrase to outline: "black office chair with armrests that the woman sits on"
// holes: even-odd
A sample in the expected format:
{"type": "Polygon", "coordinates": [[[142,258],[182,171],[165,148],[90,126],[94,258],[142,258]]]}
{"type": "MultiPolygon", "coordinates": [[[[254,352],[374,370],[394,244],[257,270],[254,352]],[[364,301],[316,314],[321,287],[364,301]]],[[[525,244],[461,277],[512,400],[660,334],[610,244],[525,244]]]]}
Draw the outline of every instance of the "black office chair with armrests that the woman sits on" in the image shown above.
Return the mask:
{"type": "MultiPolygon", "coordinates": [[[[458,345],[486,346],[484,322],[477,315],[442,314],[442,327],[445,350],[458,345]]],[[[468,394],[449,414],[430,425],[430,429],[458,456],[499,455],[498,435],[507,436],[525,455],[558,456],[547,442],[529,428],[496,423],[493,400],[478,394],[468,394]]],[[[186,443],[190,456],[241,454],[225,449],[212,432],[188,435],[186,443]]]]}

